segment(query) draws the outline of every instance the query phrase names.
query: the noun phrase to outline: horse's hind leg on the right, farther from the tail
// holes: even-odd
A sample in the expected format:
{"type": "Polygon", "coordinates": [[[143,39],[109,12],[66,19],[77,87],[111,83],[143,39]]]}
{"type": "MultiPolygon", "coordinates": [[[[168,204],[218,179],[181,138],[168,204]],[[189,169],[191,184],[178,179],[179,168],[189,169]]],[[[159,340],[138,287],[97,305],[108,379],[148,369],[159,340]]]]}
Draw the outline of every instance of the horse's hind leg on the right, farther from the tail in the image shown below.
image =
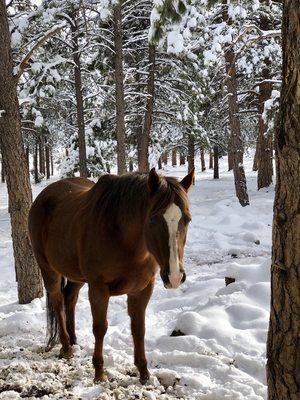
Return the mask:
{"type": "Polygon", "coordinates": [[[84,283],[71,282],[68,280],[64,288],[65,310],[66,310],[66,326],[70,337],[70,344],[76,344],[75,334],[75,307],[78,299],[79,290],[84,283]]]}

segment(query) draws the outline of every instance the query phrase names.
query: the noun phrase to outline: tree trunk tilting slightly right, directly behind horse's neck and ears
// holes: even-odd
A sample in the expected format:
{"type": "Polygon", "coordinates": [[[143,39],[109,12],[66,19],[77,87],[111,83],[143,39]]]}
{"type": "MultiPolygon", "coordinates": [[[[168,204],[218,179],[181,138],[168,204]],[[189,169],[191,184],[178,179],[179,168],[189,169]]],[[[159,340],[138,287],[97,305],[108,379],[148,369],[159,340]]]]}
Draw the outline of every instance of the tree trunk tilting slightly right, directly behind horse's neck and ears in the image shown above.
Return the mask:
{"type": "Polygon", "coordinates": [[[141,137],[141,155],[140,155],[140,164],[139,171],[140,172],[148,172],[149,171],[149,143],[150,143],[150,134],[152,128],[152,115],[153,115],[153,106],[154,106],[154,89],[155,89],[155,81],[154,81],[154,73],[155,73],[155,46],[149,45],[149,75],[148,75],[148,84],[147,84],[147,102],[146,102],[146,112],[145,112],[145,120],[143,133],[141,137]]]}

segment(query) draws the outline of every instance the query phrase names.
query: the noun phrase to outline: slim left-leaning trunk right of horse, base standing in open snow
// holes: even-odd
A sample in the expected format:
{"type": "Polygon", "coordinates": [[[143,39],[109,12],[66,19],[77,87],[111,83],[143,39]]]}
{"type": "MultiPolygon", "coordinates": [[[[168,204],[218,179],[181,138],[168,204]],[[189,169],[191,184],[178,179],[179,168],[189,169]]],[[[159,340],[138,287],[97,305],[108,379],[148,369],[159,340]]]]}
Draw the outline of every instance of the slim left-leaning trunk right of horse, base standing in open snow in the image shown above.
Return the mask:
{"type": "MultiPolygon", "coordinates": [[[[231,23],[228,17],[227,0],[223,0],[225,4],[224,21],[231,23]]],[[[243,165],[243,141],[241,135],[241,125],[239,119],[239,107],[237,103],[237,78],[235,66],[235,52],[232,44],[225,46],[225,62],[226,62],[226,85],[228,90],[228,111],[230,125],[230,141],[232,149],[233,175],[235,192],[241,206],[249,205],[249,197],[247,192],[246,175],[243,165]]]]}

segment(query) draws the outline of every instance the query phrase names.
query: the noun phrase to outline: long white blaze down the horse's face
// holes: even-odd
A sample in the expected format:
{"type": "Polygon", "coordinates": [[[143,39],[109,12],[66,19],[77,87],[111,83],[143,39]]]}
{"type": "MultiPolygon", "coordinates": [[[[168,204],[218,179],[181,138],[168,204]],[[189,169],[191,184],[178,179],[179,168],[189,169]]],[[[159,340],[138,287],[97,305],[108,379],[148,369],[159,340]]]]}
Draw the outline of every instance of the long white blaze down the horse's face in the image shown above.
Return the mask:
{"type": "Polygon", "coordinates": [[[179,268],[178,244],[177,244],[178,223],[181,216],[182,213],[180,208],[174,203],[171,204],[169,208],[167,208],[166,212],[163,215],[169,230],[169,248],[170,248],[169,280],[173,288],[178,288],[183,276],[179,268]]]}

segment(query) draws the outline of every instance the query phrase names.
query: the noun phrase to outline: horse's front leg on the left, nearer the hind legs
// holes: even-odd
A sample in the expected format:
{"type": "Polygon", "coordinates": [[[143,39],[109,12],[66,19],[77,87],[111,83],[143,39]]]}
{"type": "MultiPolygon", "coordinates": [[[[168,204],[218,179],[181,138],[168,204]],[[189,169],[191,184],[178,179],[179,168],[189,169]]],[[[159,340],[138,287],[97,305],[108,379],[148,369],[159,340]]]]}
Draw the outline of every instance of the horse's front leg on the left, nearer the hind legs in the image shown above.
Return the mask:
{"type": "Polygon", "coordinates": [[[89,282],[89,300],[93,316],[93,333],[95,336],[95,348],[93,365],[95,368],[94,382],[103,382],[106,375],[103,369],[103,339],[107,331],[107,306],[109,301],[109,289],[102,282],[89,282]]]}

